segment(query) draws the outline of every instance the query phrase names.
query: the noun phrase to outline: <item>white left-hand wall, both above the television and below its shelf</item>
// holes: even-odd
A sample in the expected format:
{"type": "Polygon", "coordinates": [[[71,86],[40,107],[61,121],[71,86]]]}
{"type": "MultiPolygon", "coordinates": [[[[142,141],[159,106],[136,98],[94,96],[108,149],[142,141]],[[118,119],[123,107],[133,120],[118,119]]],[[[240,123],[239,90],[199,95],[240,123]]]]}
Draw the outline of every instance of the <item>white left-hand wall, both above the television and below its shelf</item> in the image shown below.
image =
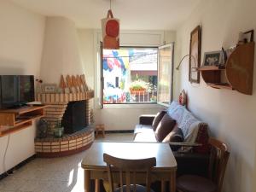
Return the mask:
{"type": "MultiPolygon", "coordinates": [[[[0,74],[38,77],[44,39],[44,17],[0,1],[0,74]]],[[[12,134],[6,155],[7,169],[34,154],[35,126],[12,134]]],[[[8,137],[0,137],[0,174],[8,137]]]]}

